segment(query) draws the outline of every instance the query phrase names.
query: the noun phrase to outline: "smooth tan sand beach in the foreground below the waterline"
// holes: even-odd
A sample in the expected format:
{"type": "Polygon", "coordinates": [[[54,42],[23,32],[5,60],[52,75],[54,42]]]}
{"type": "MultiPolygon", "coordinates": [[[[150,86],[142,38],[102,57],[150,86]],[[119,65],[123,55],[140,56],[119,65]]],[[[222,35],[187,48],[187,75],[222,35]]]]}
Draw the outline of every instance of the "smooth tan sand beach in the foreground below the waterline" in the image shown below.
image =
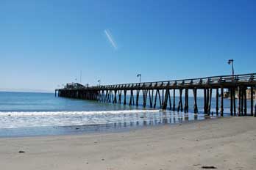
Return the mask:
{"type": "Polygon", "coordinates": [[[0,138],[1,170],[202,166],[256,169],[256,118],[229,117],[118,133],[0,138]]]}

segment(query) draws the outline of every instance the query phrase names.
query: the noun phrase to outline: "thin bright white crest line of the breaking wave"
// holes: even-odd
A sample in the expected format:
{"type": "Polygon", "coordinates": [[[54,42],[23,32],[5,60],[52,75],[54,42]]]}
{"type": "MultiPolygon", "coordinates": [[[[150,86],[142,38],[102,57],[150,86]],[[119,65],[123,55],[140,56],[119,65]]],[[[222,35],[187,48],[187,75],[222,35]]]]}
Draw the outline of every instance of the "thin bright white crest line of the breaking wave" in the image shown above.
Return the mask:
{"type": "Polygon", "coordinates": [[[1,116],[22,117],[22,116],[61,116],[61,115],[90,115],[90,114],[141,114],[155,113],[160,110],[121,110],[121,111],[7,111],[1,112],[1,116]]]}

